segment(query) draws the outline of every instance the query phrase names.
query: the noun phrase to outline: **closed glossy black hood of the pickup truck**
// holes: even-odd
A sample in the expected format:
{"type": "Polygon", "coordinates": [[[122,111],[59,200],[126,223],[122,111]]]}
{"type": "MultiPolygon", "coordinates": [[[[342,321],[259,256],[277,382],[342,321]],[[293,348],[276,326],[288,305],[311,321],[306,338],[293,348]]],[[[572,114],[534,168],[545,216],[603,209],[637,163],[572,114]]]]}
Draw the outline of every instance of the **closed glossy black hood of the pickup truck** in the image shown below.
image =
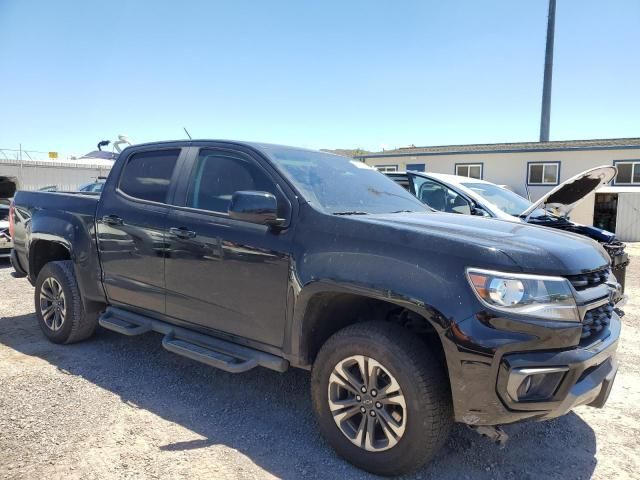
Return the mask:
{"type": "Polygon", "coordinates": [[[606,251],[593,240],[572,233],[520,222],[473,217],[454,213],[397,213],[353,216],[354,220],[385,225],[401,233],[424,235],[425,247],[447,245],[458,255],[466,248],[469,266],[474,248],[500,251],[523,272],[576,275],[598,270],[610,262],[606,251]],[[458,250],[460,249],[460,250],[458,250]]]}

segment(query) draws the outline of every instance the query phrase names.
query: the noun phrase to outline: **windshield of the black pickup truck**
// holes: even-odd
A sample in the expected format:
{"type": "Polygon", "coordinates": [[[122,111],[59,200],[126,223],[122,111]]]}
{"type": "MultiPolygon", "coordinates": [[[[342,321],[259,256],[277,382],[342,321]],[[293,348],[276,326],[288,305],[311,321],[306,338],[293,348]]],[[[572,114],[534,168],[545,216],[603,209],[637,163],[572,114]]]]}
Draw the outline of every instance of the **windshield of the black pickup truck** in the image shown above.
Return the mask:
{"type": "Polygon", "coordinates": [[[430,211],[393,180],[358,160],[272,145],[261,148],[305,200],[326,213],[430,211]]]}

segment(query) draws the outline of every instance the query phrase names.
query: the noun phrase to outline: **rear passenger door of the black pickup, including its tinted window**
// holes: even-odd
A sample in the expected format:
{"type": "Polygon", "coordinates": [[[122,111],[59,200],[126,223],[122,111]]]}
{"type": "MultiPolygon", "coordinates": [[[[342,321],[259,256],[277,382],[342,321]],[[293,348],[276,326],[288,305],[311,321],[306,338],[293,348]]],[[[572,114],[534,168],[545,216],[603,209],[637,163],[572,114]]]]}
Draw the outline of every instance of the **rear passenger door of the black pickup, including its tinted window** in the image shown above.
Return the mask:
{"type": "Polygon", "coordinates": [[[133,149],[111,173],[96,214],[109,301],[165,313],[168,202],[187,148],[133,149]]]}

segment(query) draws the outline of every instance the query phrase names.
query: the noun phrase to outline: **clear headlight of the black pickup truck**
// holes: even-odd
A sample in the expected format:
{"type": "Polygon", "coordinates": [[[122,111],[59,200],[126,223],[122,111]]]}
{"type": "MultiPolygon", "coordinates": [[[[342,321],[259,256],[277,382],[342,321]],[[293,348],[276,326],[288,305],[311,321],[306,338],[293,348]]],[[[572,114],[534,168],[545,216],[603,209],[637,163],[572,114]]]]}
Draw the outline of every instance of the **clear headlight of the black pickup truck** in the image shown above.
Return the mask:
{"type": "Polygon", "coordinates": [[[471,288],[487,307],[545,320],[579,322],[566,278],[467,269],[471,288]]]}

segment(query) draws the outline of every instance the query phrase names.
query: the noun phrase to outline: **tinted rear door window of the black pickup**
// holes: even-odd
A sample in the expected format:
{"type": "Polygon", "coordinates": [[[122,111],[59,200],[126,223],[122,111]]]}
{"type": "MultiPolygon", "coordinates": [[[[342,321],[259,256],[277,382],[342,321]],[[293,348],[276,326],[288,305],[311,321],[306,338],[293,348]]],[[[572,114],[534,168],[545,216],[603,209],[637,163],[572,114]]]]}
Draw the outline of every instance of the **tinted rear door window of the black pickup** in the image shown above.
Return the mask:
{"type": "Polygon", "coordinates": [[[179,155],[179,149],[133,154],[122,171],[118,188],[134,198],[166,203],[179,155]]]}

